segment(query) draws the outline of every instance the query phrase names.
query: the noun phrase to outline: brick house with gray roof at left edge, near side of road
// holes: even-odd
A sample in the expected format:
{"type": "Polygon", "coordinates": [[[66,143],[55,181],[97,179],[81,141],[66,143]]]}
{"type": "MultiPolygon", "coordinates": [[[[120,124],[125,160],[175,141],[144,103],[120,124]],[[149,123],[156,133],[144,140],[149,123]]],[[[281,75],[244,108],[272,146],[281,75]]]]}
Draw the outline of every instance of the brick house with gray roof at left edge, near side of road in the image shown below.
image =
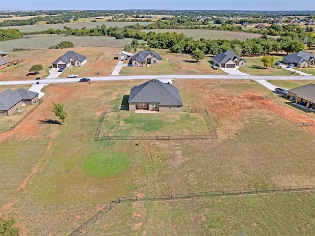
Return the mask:
{"type": "Polygon", "coordinates": [[[38,100],[37,92],[22,88],[12,91],[6,89],[0,93],[0,116],[9,116],[18,110],[23,104],[32,105],[38,100]]]}

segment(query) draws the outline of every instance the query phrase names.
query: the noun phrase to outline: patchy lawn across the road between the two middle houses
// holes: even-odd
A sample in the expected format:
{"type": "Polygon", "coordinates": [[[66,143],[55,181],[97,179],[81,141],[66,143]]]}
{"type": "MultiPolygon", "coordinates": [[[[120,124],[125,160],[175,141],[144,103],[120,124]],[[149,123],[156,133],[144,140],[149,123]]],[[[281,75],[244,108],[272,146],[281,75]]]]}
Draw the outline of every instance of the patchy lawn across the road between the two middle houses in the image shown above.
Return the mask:
{"type": "Polygon", "coordinates": [[[166,49],[154,49],[154,52],[162,56],[162,62],[156,65],[151,64],[149,67],[123,67],[121,75],[193,75],[193,74],[213,74],[225,75],[222,70],[211,68],[212,57],[206,56],[205,59],[197,62],[191,59],[191,56],[183,53],[169,53],[166,49]]]}

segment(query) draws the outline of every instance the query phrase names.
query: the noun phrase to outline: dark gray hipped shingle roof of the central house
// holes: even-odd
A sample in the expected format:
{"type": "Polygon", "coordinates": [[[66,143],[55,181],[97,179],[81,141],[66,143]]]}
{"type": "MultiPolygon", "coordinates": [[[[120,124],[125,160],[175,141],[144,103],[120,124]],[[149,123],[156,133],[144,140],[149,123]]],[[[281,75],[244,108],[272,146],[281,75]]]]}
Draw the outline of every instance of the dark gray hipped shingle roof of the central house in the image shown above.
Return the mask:
{"type": "Polygon", "coordinates": [[[129,102],[157,102],[160,106],[183,106],[178,89],[170,83],[150,80],[130,90],[129,102]]]}

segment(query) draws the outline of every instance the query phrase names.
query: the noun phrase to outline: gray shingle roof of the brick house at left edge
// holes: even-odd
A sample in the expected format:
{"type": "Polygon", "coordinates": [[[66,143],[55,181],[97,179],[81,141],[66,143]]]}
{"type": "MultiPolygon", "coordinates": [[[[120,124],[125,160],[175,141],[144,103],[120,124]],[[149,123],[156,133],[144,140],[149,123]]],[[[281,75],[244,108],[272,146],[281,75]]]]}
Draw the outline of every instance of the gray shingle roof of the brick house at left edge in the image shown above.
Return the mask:
{"type": "Polygon", "coordinates": [[[6,89],[0,93],[0,110],[7,111],[21,100],[32,100],[38,94],[39,93],[37,92],[32,92],[22,88],[16,89],[15,91],[6,89]]]}

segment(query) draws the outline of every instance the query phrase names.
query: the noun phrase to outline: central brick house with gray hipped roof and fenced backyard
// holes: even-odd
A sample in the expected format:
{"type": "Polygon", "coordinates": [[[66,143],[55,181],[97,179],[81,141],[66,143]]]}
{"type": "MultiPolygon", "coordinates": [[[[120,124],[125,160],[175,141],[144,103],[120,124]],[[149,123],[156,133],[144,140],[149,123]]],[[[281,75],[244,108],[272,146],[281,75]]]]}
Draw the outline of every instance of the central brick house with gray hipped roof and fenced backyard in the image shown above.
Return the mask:
{"type": "Polygon", "coordinates": [[[129,111],[138,109],[159,112],[181,112],[183,102],[178,89],[170,83],[150,80],[130,90],[129,111]]]}

